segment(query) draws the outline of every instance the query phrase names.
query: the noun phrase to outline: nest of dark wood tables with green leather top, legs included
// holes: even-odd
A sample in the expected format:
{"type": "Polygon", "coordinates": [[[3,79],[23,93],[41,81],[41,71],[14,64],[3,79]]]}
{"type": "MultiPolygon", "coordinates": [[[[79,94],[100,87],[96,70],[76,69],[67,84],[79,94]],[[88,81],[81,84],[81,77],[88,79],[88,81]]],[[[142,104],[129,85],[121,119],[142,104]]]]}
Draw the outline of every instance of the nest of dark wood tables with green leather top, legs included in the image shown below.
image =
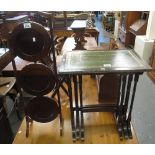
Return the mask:
{"type": "Polygon", "coordinates": [[[131,113],[137,82],[140,74],[150,70],[151,67],[130,50],[67,52],[58,72],[68,78],[73,140],[79,138],[84,140],[83,113],[107,111],[114,113],[120,139],[132,138],[131,113]],[[94,74],[119,76],[117,103],[83,105],[82,75],[94,74]],[[75,106],[73,106],[71,77],[74,83],[75,106]]]}

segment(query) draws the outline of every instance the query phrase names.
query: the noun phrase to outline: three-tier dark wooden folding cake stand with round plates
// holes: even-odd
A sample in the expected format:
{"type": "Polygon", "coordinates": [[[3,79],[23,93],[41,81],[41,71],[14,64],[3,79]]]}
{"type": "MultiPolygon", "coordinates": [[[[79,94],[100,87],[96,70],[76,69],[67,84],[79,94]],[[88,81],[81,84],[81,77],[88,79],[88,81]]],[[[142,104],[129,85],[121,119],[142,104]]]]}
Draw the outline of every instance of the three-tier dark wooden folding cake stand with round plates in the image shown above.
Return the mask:
{"type": "Polygon", "coordinates": [[[34,120],[46,123],[53,121],[58,115],[62,135],[63,120],[57,72],[55,68],[39,63],[53,52],[51,45],[54,44],[51,42],[51,37],[42,25],[29,21],[19,24],[9,38],[14,75],[26,116],[26,137],[29,135],[29,122],[34,120]],[[14,60],[15,55],[30,61],[31,64],[24,66],[19,72],[14,60]],[[33,95],[27,104],[24,102],[22,90],[33,95]],[[57,95],[58,102],[53,96],[45,97],[52,90],[57,95]]]}

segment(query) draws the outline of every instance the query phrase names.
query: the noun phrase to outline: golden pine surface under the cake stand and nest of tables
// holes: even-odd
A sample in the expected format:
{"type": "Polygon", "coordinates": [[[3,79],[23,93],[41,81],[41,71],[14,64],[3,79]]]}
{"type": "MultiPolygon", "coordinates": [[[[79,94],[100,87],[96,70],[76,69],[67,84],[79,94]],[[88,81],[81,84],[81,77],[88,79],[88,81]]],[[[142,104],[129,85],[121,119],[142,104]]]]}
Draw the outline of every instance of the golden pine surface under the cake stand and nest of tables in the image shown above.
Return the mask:
{"type": "MultiPolygon", "coordinates": [[[[84,104],[98,104],[96,82],[90,76],[84,77],[84,104]],[[87,89],[86,89],[87,88],[87,89]]],[[[85,113],[85,141],[73,142],[71,137],[69,101],[65,94],[62,96],[62,112],[64,117],[64,133],[59,135],[59,118],[51,123],[33,122],[30,135],[25,137],[25,119],[14,139],[14,144],[135,144],[138,143],[135,132],[133,139],[120,141],[116,130],[115,119],[112,113],[85,113]]]]}

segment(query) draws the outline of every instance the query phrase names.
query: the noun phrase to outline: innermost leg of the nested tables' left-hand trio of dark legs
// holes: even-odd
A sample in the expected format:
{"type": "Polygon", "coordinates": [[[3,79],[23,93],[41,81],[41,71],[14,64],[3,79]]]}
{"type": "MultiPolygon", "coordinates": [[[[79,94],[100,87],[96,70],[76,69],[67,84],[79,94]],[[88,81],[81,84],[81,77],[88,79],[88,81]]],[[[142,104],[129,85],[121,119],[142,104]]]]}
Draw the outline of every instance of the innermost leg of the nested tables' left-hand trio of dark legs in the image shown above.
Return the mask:
{"type": "Polygon", "coordinates": [[[83,94],[82,94],[82,75],[79,75],[79,94],[80,94],[80,116],[81,116],[81,140],[84,141],[84,118],[83,118],[83,94]]]}

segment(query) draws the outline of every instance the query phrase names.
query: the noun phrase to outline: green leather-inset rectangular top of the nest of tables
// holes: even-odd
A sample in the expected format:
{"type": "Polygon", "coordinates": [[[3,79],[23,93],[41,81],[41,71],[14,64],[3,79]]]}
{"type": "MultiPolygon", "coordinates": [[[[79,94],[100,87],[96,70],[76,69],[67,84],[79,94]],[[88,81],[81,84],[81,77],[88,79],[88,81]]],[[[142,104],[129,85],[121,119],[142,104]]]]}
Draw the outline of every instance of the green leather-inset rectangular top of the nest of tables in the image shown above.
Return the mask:
{"type": "Polygon", "coordinates": [[[132,50],[72,51],[64,55],[60,74],[95,74],[151,71],[132,50]]]}

